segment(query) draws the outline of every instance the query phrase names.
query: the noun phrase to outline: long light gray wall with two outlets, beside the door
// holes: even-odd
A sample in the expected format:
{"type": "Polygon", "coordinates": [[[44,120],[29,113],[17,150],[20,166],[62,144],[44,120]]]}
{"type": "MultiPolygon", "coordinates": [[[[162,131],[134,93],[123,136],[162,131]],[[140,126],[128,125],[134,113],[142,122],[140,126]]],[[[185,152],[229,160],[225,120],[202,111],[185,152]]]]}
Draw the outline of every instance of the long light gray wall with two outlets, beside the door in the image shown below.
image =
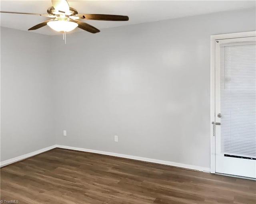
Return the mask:
{"type": "Polygon", "coordinates": [[[52,37],[57,144],[210,167],[210,35],[255,23],[249,9],[52,37]]]}

